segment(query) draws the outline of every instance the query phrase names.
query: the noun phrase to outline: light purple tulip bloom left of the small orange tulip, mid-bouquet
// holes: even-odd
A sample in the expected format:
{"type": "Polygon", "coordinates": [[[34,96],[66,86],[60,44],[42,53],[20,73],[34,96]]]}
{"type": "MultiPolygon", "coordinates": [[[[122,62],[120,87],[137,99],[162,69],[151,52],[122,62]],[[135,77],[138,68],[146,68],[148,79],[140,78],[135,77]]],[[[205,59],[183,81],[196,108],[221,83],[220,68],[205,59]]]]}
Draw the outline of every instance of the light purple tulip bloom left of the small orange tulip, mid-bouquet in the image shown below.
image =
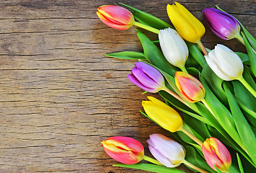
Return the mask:
{"type": "Polygon", "coordinates": [[[140,61],[133,67],[128,79],[147,92],[156,93],[166,87],[162,74],[156,68],[140,61]]]}

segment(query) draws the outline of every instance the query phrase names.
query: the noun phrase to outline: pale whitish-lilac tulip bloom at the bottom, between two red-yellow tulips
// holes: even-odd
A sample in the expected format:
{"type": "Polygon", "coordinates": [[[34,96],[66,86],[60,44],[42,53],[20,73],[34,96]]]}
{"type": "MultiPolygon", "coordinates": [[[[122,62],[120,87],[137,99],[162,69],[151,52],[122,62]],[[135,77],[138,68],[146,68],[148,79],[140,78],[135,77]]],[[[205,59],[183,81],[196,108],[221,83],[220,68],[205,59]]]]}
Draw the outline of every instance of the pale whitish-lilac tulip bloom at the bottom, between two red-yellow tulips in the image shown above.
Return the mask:
{"type": "Polygon", "coordinates": [[[146,142],[154,158],[165,167],[178,167],[185,159],[185,148],[162,134],[152,134],[146,142]]]}

